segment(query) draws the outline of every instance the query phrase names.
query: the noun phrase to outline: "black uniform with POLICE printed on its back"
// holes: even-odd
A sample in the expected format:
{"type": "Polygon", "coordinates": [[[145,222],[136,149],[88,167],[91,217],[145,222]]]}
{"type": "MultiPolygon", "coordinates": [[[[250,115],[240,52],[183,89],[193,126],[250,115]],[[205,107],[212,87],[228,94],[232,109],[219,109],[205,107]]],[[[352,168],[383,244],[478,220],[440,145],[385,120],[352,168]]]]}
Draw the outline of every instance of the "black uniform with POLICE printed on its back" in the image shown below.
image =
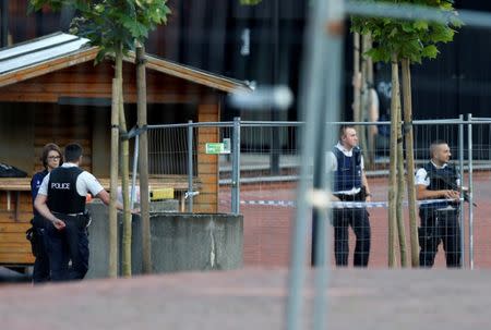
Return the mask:
{"type": "Polygon", "coordinates": [[[79,167],[59,167],[49,175],[48,208],[65,223],[62,230],[52,224],[48,229],[52,281],[82,280],[88,270],[85,196],[76,192],[76,179],[82,172],[79,167]]]}

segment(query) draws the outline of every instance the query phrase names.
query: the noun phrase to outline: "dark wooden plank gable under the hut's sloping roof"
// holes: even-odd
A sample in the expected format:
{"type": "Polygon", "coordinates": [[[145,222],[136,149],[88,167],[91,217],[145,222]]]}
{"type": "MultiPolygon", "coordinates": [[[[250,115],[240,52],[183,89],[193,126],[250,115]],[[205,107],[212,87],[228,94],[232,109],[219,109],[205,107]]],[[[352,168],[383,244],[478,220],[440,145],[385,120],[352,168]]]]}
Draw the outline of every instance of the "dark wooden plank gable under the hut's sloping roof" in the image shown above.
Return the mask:
{"type": "MultiPolygon", "coordinates": [[[[0,101],[58,102],[59,98],[96,98],[110,100],[113,70],[110,62],[87,62],[0,88],[0,101]]],[[[197,102],[212,89],[147,70],[147,102],[197,102]]],[[[124,102],[136,102],[135,66],[123,65],[124,102]]],[[[213,93],[213,91],[212,91],[213,93]]]]}

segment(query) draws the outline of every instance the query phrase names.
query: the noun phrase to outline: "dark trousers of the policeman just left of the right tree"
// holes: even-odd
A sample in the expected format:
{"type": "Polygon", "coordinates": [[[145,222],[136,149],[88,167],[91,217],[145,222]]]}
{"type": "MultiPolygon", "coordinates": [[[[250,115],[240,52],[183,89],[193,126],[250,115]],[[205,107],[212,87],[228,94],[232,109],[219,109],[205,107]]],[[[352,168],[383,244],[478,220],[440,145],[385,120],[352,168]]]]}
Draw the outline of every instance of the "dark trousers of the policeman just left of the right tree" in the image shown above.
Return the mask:
{"type": "MultiPolygon", "coordinates": [[[[336,195],[343,201],[360,200],[359,195],[336,195]]],[[[370,257],[370,220],[366,208],[333,209],[334,257],[336,266],[348,266],[349,227],[356,236],[354,266],[367,267],[370,257]]]]}

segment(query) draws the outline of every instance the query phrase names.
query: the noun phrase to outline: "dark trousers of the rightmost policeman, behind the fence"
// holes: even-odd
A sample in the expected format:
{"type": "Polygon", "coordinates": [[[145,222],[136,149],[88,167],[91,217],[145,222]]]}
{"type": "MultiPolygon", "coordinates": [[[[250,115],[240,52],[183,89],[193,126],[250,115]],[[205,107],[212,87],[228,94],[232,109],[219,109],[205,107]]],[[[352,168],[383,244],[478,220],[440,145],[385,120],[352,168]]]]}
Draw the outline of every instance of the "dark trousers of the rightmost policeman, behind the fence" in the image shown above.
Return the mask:
{"type": "Polygon", "coordinates": [[[420,267],[433,266],[440,243],[443,243],[445,250],[446,267],[460,267],[462,237],[458,209],[421,209],[419,216],[420,267]]]}

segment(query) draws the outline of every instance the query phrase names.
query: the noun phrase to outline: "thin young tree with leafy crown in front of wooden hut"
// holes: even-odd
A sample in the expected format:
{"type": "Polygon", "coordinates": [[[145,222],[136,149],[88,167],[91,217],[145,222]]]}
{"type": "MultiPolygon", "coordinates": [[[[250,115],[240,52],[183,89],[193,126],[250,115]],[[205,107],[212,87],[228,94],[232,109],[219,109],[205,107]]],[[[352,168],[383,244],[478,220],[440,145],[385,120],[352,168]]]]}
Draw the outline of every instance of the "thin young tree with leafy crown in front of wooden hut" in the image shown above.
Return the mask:
{"type": "MultiPolygon", "coordinates": [[[[70,32],[77,36],[85,37],[92,46],[97,46],[99,52],[96,63],[106,58],[115,61],[115,78],[112,88],[111,107],[111,180],[110,193],[111,201],[109,206],[109,276],[117,277],[117,212],[116,197],[118,186],[118,148],[119,129],[122,123],[119,114],[124,115],[122,110],[123,88],[122,88],[122,59],[129,51],[134,50],[135,41],[144,44],[148,38],[148,33],[158,25],[167,22],[170,9],[167,0],[31,0],[29,10],[38,11],[43,8],[50,8],[55,11],[62,8],[70,8],[76,11],[77,17],[72,21],[70,32]]],[[[128,173],[123,173],[128,178],[128,173]]],[[[128,186],[125,187],[128,196],[128,186]]],[[[128,198],[127,198],[128,200],[128,198]]],[[[128,201],[124,204],[124,227],[131,225],[131,215],[128,201]]],[[[149,219],[142,219],[142,222],[149,219]]],[[[143,223],[145,228],[145,223],[143,223]]],[[[149,228],[149,224],[147,225],[149,228]]],[[[125,231],[129,232],[128,230],[125,231]]],[[[131,232],[130,232],[131,233],[131,232]]],[[[143,235],[149,232],[143,231],[143,235]]],[[[149,242],[149,237],[143,237],[143,242],[149,242]]],[[[131,237],[125,240],[125,244],[131,244],[131,237]],[[129,243],[130,242],[130,243],[129,243]]],[[[129,250],[123,249],[123,250],[129,250]]],[[[143,248],[149,254],[149,248],[143,248]]],[[[123,274],[128,274],[129,256],[125,256],[125,269],[123,274]]],[[[151,258],[143,256],[143,260],[151,258]]],[[[130,259],[131,260],[131,259],[130,259]]],[[[151,269],[144,265],[144,269],[151,269]]],[[[131,271],[131,270],[130,270],[131,271]]],[[[131,272],[130,272],[131,273],[131,272]]]]}

